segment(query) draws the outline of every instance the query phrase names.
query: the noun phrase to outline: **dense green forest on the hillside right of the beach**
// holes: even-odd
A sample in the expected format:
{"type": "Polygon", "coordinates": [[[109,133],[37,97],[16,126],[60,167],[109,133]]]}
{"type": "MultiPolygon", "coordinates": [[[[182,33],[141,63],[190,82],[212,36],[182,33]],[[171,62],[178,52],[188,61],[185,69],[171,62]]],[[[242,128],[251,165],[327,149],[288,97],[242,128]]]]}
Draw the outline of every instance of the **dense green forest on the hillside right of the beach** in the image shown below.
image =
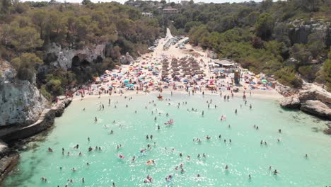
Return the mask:
{"type": "Polygon", "coordinates": [[[173,6],[172,30],[253,72],[300,87],[301,79],[331,91],[331,1],[265,0],[173,6]],[[300,77],[301,79],[298,79],[300,77]]]}

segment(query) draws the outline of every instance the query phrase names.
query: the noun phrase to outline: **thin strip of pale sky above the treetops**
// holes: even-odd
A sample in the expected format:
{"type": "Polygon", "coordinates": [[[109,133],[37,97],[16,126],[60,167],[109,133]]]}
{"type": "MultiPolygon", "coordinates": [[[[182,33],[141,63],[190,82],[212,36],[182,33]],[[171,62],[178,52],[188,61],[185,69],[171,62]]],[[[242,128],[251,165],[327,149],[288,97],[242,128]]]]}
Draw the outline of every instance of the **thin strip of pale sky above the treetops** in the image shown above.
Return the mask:
{"type": "MultiPolygon", "coordinates": [[[[22,1],[49,1],[49,0],[22,0],[22,1]]],[[[56,1],[60,1],[60,2],[64,2],[64,0],[56,0],[56,1]]],[[[66,0],[66,2],[71,2],[71,3],[80,3],[82,0],[66,0]]],[[[125,1],[127,0],[91,0],[94,3],[97,3],[98,1],[100,2],[111,2],[111,1],[117,1],[120,2],[122,4],[124,4],[125,1]]],[[[168,1],[168,0],[167,0],[168,1]]],[[[180,0],[170,0],[173,2],[178,2],[180,0]]],[[[197,2],[204,2],[204,3],[238,3],[238,2],[243,2],[245,0],[194,0],[195,3],[197,2]]],[[[250,1],[250,0],[246,0],[246,1],[250,1]]],[[[254,0],[255,2],[260,2],[262,0],[254,0]]]]}

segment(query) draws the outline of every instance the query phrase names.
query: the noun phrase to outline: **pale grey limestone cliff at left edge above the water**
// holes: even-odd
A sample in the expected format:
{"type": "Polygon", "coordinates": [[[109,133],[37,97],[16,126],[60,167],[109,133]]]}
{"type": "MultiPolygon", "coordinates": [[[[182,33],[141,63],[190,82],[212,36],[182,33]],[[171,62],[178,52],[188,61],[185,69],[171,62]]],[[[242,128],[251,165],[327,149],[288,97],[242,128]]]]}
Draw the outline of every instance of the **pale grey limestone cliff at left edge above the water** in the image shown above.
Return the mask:
{"type": "Polygon", "coordinates": [[[47,107],[47,100],[35,85],[15,75],[8,62],[0,62],[0,127],[30,125],[47,107]]]}

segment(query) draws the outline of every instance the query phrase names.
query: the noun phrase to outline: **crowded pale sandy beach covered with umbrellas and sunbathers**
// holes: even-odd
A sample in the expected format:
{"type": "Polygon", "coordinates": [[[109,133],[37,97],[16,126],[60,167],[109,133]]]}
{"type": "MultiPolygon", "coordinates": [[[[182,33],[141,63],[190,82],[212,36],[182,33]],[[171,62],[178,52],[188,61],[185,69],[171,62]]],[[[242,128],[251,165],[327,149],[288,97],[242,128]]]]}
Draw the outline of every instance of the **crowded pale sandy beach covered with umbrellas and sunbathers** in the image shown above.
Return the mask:
{"type": "MultiPolygon", "coordinates": [[[[240,85],[238,87],[236,86],[238,91],[234,92],[233,88],[235,86],[233,85],[233,73],[226,74],[226,77],[222,77],[222,79],[216,78],[217,74],[213,72],[214,69],[211,69],[208,65],[208,62],[212,62],[212,60],[207,57],[206,51],[203,51],[199,47],[192,47],[192,45],[188,43],[185,44],[185,49],[176,47],[177,43],[182,43],[185,40],[188,40],[188,38],[183,38],[175,45],[170,45],[168,50],[163,50],[163,45],[165,45],[165,43],[171,38],[173,38],[173,35],[171,35],[170,30],[167,29],[166,37],[161,38],[158,41],[158,45],[153,52],[142,55],[131,64],[123,64],[117,69],[106,71],[109,75],[107,81],[100,81],[97,84],[91,84],[89,88],[83,91],[77,91],[74,95],[74,101],[81,100],[81,95],[83,95],[84,98],[110,96],[107,91],[109,88],[111,88],[110,92],[114,92],[112,94],[121,95],[147,94],[146,92],[170,93],[171,91],[188,95],[188,92],[192,93],[192,91],[194,91],[197,94],[202,94],[202,92],[204,92],[204,94],[222,94],[222,96],[226,95],[232,97],[243,97],[244,95],[247,97],[252,96],[256,98],[272,99],[283,97],[276,90],[272,89],[271,86],[266,86],[266,84],[261,85],[266,86],[262,87],[264,90],[251,89],[251,82],[248,83],[247,80],[244,81],[245,79],[248,79],[247,77],[245,77],[245,79],[240,77],[240,85]],[[175,81],[175,78],[177,77],[173,77],[173,75],[170,76],[170,74],[176,73],[171,64],[177,60],[184,61],[187,59],[199,64],[199,67],[197,68],[200,69],[200,72],[203,72],[202,79],[194,79],[194,77],[197,78],[197,76],[188,76],[187,78],[184,75],[179,75],[178,77],[180,77],[180,81],[175,81]],[[171,62],[169,63],[169,61],[171,62]],[[165,62],[169,64],[168,69],[163,68],[165,62]],[[168,80],[170,81],[164,81],[166,74],[169,74],[168,80]],[[194,84],[192,84],[192,79],[194,80],[194,84]],[[133,82],[134,84],[132,84],[133,82]],[[215,89],[209,87],[211,84],[215,89]]],[[[180,66],[181,73],[182,69],[185,69],[185,67],[180,66]]],[[[238,69],[243,70],[241,67],[238,67],[238,69]]],[[[248,75],[246,74],[246,76],[248,75]]],[[[250,76],[250,81],[260,81],[258,76],[255,77],[253,74],[250,76]]],[[[102,77],[100,78],[102,79],[102,77]]]]}

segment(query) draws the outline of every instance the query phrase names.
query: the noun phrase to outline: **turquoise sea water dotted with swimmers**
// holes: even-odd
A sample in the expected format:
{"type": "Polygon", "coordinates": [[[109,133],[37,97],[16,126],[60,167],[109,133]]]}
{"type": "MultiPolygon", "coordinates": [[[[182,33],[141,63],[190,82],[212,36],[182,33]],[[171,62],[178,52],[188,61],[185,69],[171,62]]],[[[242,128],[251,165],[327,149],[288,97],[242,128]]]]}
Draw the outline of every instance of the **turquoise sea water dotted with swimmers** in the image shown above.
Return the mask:
{"type": "Polygon", "coordinates": [[[64,115],[55,120],[55,127],[45,141],[30,142],[21,152],[18,167],[4,186],[65,186],[69,184],[68,179],[74,181],[68,186],[111,186],[112,182],[116,186],[331,185],[331,137],[322,132],[325,122],[298,111],[284,111],[277,101],[248,98],[245,106],[241,98],[223,101],[219,96],[165,94],[170,101],[156,101],[156,96],[134,95],[131,101],[124,96],[112,96],[110,106],[107,97],[74,101],[64,115]],[[208,108],[206,102],[210,99],[208,108]],[[105,105],[104,111],[98,111],[100,101],[105,105]],[[182,104],[183,101],[187,104],[182,104]],[[197,108],[197,112],[191,108],[197,108]],[[227,119],[219,120],[221,115],[227,119]],[[94,123],[95,116],[98,123],[94,123]],[[170,118],[174,125],[163,125],[170,118]],[[259,130],[253,125],[258,125],[259,130]],[[110,134],[110,130],[114,133],[110,134]],[[146,135],[153,135],[153,140],[146,140],[146,135]],[[211,140],[204,138],[207,135],[211,140]],[[200,138],[202,142],[193,142],[193,138],[200,138]],[[277,142],[277,138],[281,141],[277,142]],[[267,145],[260,145],[261,140],[267,145]],[[77,144],[79,149],[74,149],[77,144]],[[139,150],[148,144],[152,149],[145,155],[140,154],[139,150]],[[117,145],[122,147],[117,149],[117,145]],[[88,152],[89,146],[102,147],[102,150],[88,152]],[[54,152],[47,152],[48,147],[54,152]],[[83,154],[81,157],[79,152],[83,154]],[[203,153],[206,158],[197,158],[197,154],[203,153]],[[125,159],[119,159],[117,154],[123,154],[125,159]],[[132,162],[134,155],[137,159],[132,162]],[[191,159],[187,159],[187,155],[191,159]],[[156,164],[146,165],[149,159],[154,159],[156,164]],[[185,169],[183,174],[175,170],[181,163],[185,169]],[[280,174],[272,174],[269,166],[280,174]],[[76,171],[71,171],[73,167],[76,171]],[[169,174],[174,176],[172,182],[165,181],[169,174]],[[197,174],[201,176],[198,178],[197,174]],[[144,183],[147,175],[153,177],[153,183],[144,183]],[[40,180],[42,176],[47,178],[47,183],[40,180]],[[85,183],[81,182],[82,177],[85,183]]]}

